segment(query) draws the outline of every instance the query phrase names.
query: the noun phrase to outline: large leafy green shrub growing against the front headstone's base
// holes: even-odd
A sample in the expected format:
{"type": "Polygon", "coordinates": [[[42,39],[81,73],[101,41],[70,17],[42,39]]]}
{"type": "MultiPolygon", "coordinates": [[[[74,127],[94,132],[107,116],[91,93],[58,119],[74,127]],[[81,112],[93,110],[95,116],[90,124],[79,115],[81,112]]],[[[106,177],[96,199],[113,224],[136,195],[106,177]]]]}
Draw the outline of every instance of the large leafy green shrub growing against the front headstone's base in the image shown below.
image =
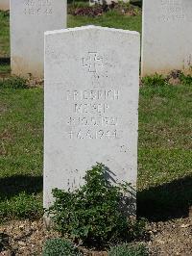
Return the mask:
{"type": "Polygon", "coordinates": [[[131,241],[144,232],[143,221],[133,221],[120,210],[128,184],[112,186],[102,164],[87,170],[85,184],[75,192],[53,191],[55,203],[47,213],[61,235],[76,242],[103,244],[131,241]]]}

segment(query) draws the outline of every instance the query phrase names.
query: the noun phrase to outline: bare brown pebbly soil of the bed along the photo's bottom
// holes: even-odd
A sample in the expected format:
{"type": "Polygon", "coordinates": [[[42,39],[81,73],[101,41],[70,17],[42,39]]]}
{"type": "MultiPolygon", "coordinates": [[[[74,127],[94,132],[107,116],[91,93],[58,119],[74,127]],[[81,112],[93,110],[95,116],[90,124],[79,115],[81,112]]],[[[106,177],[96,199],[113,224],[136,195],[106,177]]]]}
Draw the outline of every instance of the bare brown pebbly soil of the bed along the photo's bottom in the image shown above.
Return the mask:
{"type": "MultiPolygon", "coordinates": [[[[143,243],[149,248],[150,255],[192,255],[192,209],[187,218],[150,222],[147,231],[149,240],[143,243]]],[[[0,256],[10,256],[11,251],[14,255],[41,255],[43,243],[59,236],[57,232],[46,230],[42,219],[12,220],[0,225],[0,235],[2,233],[9,236],[9,243],[5,244],[7,249],[0,252],[0,256]]],[[[84,255],[107,256],[108,253],[84,249],[84,255]]]]}

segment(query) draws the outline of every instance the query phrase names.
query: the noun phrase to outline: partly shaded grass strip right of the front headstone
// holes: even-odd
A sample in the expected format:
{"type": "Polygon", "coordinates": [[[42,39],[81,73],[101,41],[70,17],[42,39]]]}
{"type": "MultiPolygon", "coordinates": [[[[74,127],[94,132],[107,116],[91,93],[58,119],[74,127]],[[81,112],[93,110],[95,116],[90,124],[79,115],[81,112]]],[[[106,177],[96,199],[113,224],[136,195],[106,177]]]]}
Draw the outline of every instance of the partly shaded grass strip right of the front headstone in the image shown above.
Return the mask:
{"type": "Polygon", "coordinates": [[[192,205],[192,87],[188,82],[140,90],[140,216],[179,218],[187,216],[192,205]]]}

